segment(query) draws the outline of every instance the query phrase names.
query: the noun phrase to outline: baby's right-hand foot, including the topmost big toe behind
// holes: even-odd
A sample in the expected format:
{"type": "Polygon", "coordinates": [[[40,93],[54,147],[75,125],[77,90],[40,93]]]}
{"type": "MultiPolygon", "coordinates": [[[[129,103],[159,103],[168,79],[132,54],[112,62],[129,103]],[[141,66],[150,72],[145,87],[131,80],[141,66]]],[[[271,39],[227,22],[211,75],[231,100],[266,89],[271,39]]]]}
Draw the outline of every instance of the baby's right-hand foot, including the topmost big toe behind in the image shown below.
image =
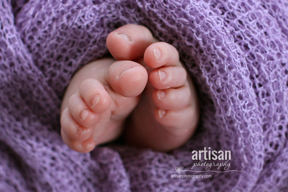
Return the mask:
{"type": "Polygon", "coordinates": [[[118,33],[126,39],[124,43],[114,43],[118,38],[115,32],[107,37],[114,58],[138,58],[134,61],[145,66],[149,74],[141,101],[124,130],[125,140],[135,146],[168,151],[193,135],[199,118],[197,94],[175,47],[157,42],[143,26],[133,27],[139,29],[124,28],[118,33]],[[153,41],[156,43],[151,44],[153,41]]]}

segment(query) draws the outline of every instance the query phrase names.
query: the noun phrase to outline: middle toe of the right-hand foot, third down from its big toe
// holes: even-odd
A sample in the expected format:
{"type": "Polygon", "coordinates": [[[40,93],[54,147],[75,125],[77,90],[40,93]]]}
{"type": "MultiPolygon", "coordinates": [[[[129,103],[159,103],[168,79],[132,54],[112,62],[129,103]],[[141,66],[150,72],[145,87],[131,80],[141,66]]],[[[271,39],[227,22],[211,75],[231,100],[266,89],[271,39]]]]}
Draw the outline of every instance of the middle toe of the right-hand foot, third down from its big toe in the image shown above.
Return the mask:
{"type": "Polygon", "coordinates": [[[187,72],[181,66],[161,67],[150,73],[149,81],[156,89],[177,88],[187,82],[187,72]]]}

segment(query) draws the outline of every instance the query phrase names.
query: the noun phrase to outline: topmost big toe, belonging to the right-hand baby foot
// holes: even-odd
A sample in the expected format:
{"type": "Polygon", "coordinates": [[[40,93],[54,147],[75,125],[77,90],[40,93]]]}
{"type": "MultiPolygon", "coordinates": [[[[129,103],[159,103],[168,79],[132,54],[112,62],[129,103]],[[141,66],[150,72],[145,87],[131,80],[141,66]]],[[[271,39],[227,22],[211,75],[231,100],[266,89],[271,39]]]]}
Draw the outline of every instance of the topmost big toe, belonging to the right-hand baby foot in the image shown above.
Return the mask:
{"type": "Polygon", "coordinates": [[[108,34],[106,44],[116,60],[134,60],[143,57],[146,48],[156,41],[146,27],[127,24],[108,34]]]}

